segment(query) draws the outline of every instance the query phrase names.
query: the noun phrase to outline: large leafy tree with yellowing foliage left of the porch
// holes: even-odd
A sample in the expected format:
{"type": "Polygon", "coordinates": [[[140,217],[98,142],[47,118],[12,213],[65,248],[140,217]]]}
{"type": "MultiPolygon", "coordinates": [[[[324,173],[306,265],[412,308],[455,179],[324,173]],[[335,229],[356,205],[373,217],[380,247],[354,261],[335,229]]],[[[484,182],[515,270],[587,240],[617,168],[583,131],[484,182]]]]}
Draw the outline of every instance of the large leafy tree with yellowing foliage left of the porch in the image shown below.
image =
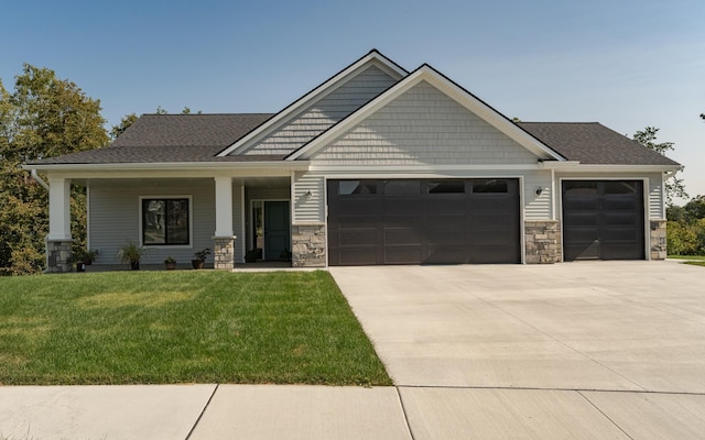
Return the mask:
{"type": "MultiPolygon", "coordinates": [[[[51,69],[24,64],[12,92],[0,81],[0,272],[44,266],[48,195],[21,165],[106,145],[105,122],[99,100],[51,69]]],[[[85,188],[72,187],[76,246],[85,244],[85,188]]]]}

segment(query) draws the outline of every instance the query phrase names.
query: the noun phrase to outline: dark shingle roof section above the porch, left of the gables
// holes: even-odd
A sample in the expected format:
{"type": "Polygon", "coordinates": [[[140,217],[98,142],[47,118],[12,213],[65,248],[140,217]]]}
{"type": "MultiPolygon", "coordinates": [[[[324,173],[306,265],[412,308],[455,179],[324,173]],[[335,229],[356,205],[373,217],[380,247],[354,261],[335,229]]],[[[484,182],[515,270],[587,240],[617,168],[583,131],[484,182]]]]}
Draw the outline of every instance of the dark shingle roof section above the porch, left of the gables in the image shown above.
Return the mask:
{"type": "Polygon", "coordinates": [[[280,161],[283,155],[217,157],[225,146],[271,117],[271,113],[143,114],[110,146],[30,164],[280,161]]]}

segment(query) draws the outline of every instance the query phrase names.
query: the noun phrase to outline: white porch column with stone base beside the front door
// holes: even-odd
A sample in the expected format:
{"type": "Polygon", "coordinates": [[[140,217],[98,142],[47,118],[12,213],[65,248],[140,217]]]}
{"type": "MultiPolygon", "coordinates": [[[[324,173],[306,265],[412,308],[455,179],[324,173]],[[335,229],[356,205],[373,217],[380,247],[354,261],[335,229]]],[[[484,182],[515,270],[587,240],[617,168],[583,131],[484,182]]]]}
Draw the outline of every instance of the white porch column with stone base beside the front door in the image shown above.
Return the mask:
{"type": "Polygon", "coordinates": [[[216,232],[213,238],[214,267],[235,267],[235,235],[232,234],[232,179],[215,177],[216,184],[216,232]]]}

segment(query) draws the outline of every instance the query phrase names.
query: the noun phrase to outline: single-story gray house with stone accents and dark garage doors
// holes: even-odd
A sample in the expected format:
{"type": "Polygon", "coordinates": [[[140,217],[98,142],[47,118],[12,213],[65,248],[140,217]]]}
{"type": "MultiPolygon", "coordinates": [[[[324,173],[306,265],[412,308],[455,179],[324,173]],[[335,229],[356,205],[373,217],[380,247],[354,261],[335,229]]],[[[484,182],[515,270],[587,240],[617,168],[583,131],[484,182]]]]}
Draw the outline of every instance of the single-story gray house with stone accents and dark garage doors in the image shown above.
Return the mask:
{"type": "Polygon", "coordinates": [[[512,122],[424,64],[371,51],[274,114],[147,114],[109,147],[25,165],[50,183],[50,272],[70,271],[69,186],[117,264],[215,267],[663,260],[680,168],[599,123],[512,122]]]}

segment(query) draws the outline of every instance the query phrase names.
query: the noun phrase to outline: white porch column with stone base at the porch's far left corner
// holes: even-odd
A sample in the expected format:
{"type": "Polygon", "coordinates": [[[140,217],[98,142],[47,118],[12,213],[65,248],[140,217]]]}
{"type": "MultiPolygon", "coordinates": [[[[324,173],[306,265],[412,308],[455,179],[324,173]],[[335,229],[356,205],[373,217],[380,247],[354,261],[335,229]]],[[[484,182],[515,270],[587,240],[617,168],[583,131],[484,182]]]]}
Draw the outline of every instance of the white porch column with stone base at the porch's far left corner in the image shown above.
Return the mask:
{"type": "Polygon", "coordinates": [[[46,272],[70,272],[70,179],[48,177],[46,272]]]}

